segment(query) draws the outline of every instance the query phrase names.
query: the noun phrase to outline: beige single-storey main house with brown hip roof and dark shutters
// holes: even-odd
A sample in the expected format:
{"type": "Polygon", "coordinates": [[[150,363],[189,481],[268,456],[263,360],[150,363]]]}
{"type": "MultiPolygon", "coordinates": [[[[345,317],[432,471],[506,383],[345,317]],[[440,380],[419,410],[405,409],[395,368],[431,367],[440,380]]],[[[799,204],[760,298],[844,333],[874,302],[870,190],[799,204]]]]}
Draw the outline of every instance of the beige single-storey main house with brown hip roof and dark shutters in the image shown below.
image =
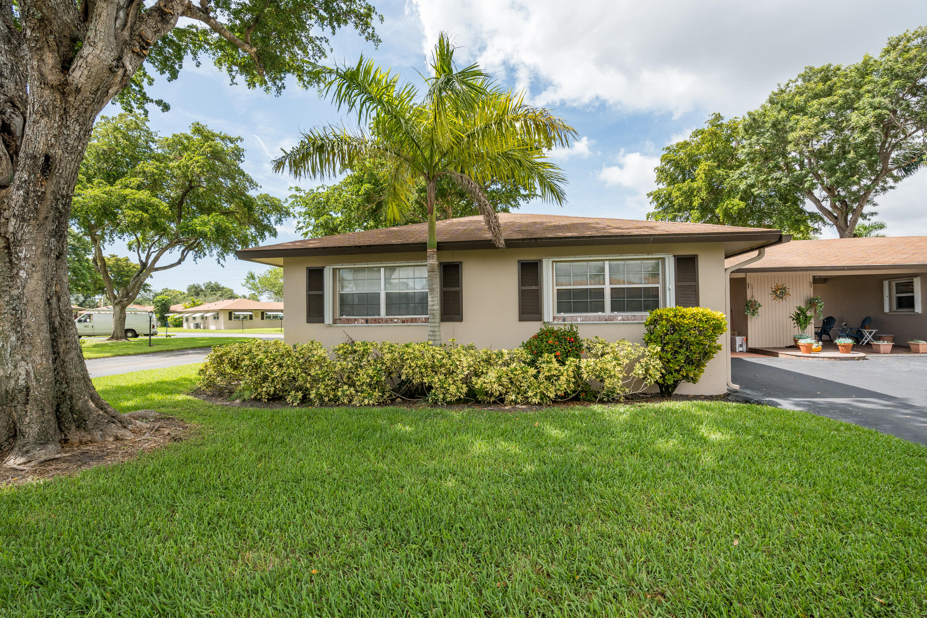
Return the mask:
{"type": "MultiPolygon", "coordinates": [[[[505,249],[482,217],[438,221],[441,336],[517,347],[542,322],[641,342],[648,311],[725,309],[724,259],[782,242],[778,230],[696,223],[501,214],[505,249]]],[[[427,340],[425,223],[242,249],[282,266],[286,343],[427,340]]],[[[727,349],[729,337],[722,337],[727,349]]],[[[726,359],[680,393],[726,392],[726,359]]]]}

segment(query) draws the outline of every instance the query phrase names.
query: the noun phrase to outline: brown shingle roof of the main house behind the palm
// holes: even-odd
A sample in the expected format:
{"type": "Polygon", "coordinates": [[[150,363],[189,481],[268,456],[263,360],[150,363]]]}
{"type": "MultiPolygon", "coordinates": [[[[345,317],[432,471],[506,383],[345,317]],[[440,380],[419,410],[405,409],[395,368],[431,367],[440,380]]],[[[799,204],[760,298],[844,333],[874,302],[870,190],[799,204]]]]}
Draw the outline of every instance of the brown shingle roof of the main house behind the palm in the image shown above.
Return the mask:
{"type": "MultiPolygon", "coordinates": [[[[565,215],[502,213],[499,215],[499,219],[502,223],[502,236],[507,246],[527,246],[541,243],[548,246],[582,245],[584,244],[581,242],[583,239],[598,239],[601,241],[608,238],[641,236],[667,238],[667,240],[679,237],[705,236],[703,239],[705,241],[722,241],[732,239],[735,236],[765,236],[780,233],[779,230],[710,225],[706,223],[671,223],[667,221],[602,219],[565,215]]],[[[277,245],[250,247],[236,251],[236,255],[241,259],[253,259],[323,254],[337,255],[338,253],[373,253],[375,251],[424,251],[427,232],[426,223],[413,223],[411,225],[400,225],[366,232],[343,233],[335,236],[295,240],[277,245]]],[[[492,246],[489,231],[480,216],[438,221],[437,232],[438,248],[442,250],[489,248],[489,246],[492,246]]]]}

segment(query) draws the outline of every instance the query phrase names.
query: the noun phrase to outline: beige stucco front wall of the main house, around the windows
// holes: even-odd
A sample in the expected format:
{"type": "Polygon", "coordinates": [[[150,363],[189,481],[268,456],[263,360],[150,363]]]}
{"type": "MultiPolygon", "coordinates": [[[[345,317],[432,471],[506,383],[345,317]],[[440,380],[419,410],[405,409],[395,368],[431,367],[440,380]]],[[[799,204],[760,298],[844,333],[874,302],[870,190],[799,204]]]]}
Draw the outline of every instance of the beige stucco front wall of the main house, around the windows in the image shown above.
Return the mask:
{"type": "MultiPolygon", "coordinates": [[[[571,256],[672,254],[699,256],[699,296],[703,307],[724,311],[724,247],[720,243],[679,245],[570,246],[538,249],[480,249],[441,251],[439,261],[463,262],[464,321],[441,322],[443,341],[455,338],[458,343],[479,347],[512,348],[519,346],[541,326],[541,322],[518,321],[519,259],[562,258],[571,256]]],[[[423,261],[422,253],[389,253],[360,256],[335,256],[284,259],[284,326],[286,343],[320,341],[326,347],[352,339],[406,343],[427,341],[425,324],[344,325],[306,323],[306,267],[332,264],[366,264],[377,262],[423,261]]],[[[601,336],[609,341],[628,339],[642,342],[641,323],[580,323],[579,334],[601,336]]],[[[718,395],[727,392],[729,338],[721,336],[722,352],[712,359],[698,385],[683,384],[679,394],[718,395]]]]}

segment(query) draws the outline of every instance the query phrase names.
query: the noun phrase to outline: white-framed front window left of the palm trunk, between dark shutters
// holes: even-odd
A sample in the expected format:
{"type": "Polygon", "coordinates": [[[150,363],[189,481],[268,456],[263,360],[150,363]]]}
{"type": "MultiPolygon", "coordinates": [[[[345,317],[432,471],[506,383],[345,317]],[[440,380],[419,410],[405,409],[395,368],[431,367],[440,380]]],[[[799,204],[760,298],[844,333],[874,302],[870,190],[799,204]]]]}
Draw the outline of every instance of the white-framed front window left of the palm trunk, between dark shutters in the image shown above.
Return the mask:
{"type": "Polygon", "coordinates": [[[425,264],[358,266],[335,270],[337,318],[412,318],[428,315],[425,264]]]}

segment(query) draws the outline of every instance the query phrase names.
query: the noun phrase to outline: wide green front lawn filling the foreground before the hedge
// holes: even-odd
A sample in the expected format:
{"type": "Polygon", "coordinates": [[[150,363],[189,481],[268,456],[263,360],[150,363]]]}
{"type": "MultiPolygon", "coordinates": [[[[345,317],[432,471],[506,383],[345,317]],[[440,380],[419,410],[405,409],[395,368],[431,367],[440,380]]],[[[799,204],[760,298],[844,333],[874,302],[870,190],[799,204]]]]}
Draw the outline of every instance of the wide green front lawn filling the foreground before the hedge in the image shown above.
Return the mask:
{"type": "Polygon", "coordinates": [[[3,616],[922,616],[927,448],[726,403],[244,409],[0,491],[3,616]],[[6,609],[4,609],[6,608],[6,609]]]}

